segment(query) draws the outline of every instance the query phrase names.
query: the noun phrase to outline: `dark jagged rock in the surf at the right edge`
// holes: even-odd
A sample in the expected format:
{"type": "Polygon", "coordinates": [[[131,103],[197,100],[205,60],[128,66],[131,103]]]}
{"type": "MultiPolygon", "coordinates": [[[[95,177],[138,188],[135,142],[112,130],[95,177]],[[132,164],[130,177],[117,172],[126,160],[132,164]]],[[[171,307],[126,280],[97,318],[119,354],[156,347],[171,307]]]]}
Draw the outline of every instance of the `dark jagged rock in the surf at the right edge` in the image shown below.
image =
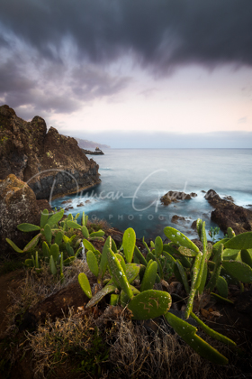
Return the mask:
{"type": "Polygon", "coordinates": [[[232,227],[236,234],[250,232],[252,230],[252,212],[239,207],[230,200],[221,199],[215,190],[210,189],[205,199],[215,208],[211,212],[211,221],[215,222],[226,233],[228,227],[232,227]]]}

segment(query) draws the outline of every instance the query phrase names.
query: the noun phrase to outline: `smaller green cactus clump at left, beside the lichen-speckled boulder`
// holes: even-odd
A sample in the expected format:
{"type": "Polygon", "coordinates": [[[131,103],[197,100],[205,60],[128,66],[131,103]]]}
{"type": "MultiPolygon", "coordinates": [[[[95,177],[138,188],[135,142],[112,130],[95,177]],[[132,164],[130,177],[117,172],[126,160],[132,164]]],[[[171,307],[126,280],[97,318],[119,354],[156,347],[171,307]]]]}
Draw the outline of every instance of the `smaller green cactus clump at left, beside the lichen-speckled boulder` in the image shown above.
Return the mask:
{"type": "MultiPolygon", "coordinates": [[[[48,209],[44,209],[40,216],[40,226],[24,223],[17,226],[18,230],[28,232],[38,232],[31,241],[20,249],[9,238],[6,241],[11,245],[16,253],[30,253],[31,258],[25,260],[27,267],[33,267],[36,273],[41,272],[41,262],[49,265],[49,271],[53,275],[59,274],[60,280],[64,281],[63,266],[69,265],[82,251],[82,238],[76,239],[73,234],[76,229],[81,231],[84,238],[85,247],[89,247],[89,240],[103,240],[104,232],[99,230],[89,234],[86,227],[88,216],[83,212],[82,225],[77,223],[77,218],[69,214],[64,220],[64,209],[49,216],[48,209]],[[86,239],[88,238],[88,240],[86,239]]],[[[95,253],[95,249],[94,249],[95,253]]],[[[100,254],[96,251],[96,254],[100,254]]],[[[90,255],[90,253],[89,253],[90,255]]],[[[94,261],[94,260],[93,260],[94,261]]]]}

